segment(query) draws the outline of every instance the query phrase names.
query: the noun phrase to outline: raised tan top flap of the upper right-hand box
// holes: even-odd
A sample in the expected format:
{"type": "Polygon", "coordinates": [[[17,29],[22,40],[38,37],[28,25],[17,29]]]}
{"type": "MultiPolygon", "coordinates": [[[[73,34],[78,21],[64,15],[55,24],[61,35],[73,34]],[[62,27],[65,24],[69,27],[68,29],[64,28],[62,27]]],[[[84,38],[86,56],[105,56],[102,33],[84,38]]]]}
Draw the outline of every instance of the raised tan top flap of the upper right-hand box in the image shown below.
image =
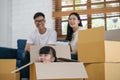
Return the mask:
{"type": "Polygon", "coordinates": [[[79,43],[104,41],[104,27],[92,28],[79,31],[79,43]]]}

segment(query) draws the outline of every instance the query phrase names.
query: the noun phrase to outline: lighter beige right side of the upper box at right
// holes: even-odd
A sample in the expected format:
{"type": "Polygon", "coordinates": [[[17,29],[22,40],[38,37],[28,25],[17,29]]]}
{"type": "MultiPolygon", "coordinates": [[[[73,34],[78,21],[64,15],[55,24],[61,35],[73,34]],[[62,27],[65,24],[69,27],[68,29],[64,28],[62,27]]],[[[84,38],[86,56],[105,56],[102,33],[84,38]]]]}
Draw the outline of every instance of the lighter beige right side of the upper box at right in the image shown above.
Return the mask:
{"type": "Polygon", "coordinates": [[[105,61],[120,62],[120,41],[104,41],[105,61]]]}

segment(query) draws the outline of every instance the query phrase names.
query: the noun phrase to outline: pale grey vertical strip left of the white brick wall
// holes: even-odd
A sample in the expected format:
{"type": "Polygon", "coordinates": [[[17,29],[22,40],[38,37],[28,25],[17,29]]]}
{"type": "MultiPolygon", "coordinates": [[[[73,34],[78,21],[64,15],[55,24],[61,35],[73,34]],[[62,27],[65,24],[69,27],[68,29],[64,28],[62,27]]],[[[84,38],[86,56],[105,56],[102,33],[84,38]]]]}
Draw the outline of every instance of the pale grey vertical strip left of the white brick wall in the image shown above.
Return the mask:
{"type": "Polygon", "coordinates": [[[10,0],[0,0],[0,47],[11,47],[12,45],[11,9],[10,0]]]}

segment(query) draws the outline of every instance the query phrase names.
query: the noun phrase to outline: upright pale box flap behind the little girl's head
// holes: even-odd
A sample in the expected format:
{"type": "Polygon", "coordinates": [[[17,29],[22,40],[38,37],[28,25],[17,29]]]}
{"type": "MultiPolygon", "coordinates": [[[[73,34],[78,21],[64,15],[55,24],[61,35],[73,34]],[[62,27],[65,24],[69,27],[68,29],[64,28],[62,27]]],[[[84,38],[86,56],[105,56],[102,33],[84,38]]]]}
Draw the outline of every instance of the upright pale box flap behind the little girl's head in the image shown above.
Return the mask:
{"type": "MultiPolygon", "coordinates": [[[[30,61],[36,62],[39,56],[39,50],[43,46],[30,46],[30,61]]],[[[57,57],[70,59],[70,47],[68,45],[51,46],[56,50],[57,57]]]]}

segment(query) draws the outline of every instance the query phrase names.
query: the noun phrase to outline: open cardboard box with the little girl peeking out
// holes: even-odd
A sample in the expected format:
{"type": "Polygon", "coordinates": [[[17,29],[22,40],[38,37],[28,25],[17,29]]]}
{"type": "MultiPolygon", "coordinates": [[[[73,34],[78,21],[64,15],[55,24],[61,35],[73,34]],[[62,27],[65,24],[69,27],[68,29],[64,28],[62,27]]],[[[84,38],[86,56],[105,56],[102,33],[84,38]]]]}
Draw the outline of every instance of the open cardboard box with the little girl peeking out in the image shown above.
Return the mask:
{"type": "MultiPolygon", "coordinates": [[[[56,45],[52,47],[56,50],[57,57],[70,59],[68,45],[56,45]]],[[[87,78],[87,73],[82,62],[53,62],[47,64],[36,62],[40,48],[41,46],[30,47],[31,63],[27,64],[27,66],[30,65],[30,80],[82,80],[83,78],[87,78]]]]}

